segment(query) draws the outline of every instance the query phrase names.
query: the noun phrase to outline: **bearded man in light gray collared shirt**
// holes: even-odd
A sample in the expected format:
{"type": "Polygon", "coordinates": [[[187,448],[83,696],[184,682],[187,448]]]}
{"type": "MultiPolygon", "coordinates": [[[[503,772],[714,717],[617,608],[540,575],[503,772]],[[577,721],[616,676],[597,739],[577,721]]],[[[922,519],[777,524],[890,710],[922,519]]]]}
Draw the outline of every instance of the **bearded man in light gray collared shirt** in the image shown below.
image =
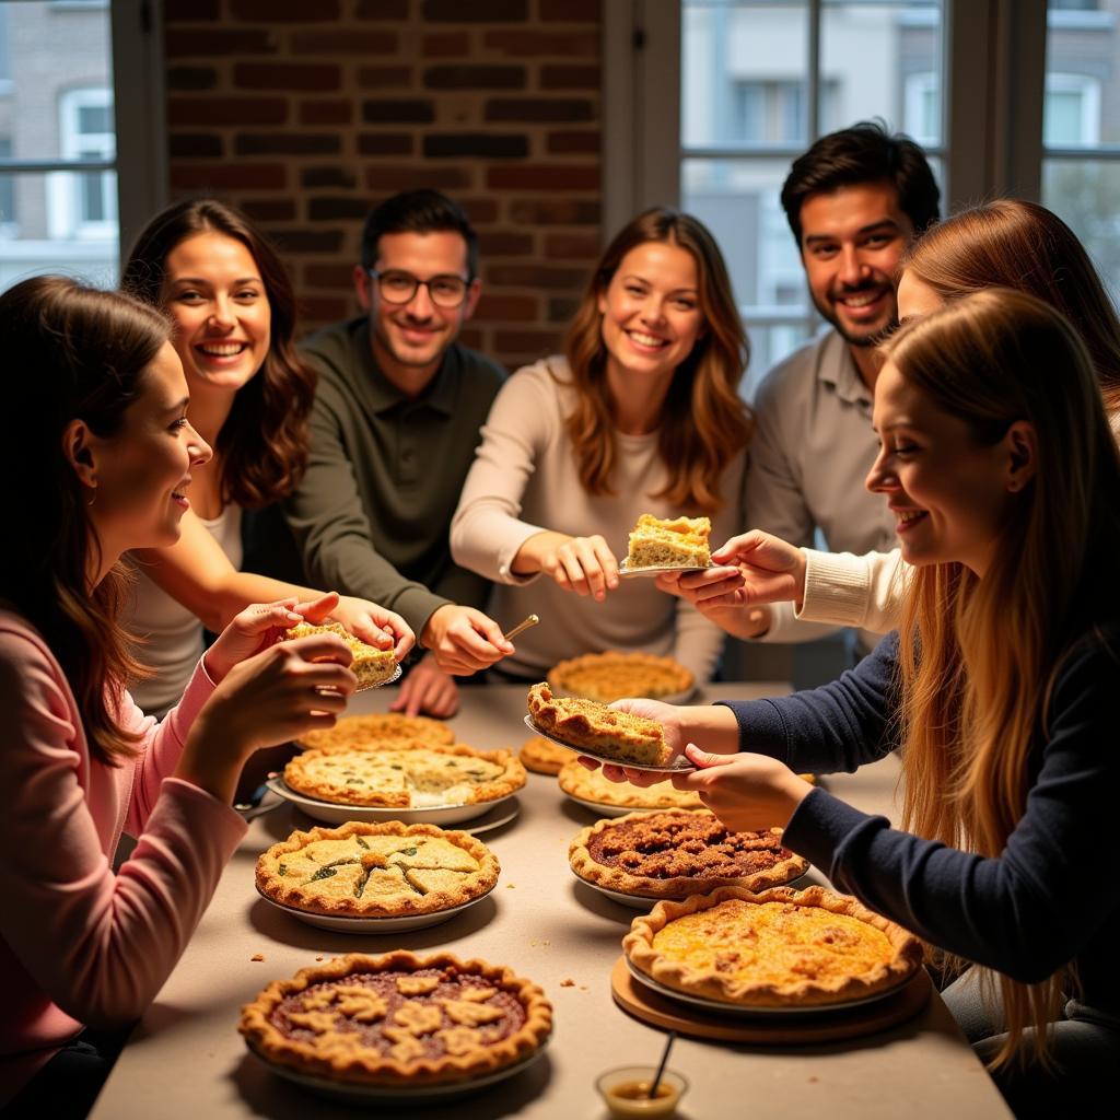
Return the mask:
{"type": "MultiPolygon", "coordinates": [[[[820,529],[833,552],[895,547],[892,514],[864,486],[878,449],[875,347],[897,326],[898,262],[937,221],[939,197],[922,149],[874,123],[822,137],[794,161],[782,206],[809,295],[832,327],[759,386],[746,489],[752,529],[797,545],[812,545],[820,529]]],[[[797,622],[788,603],[734,614],[732,633],[768,642],[804,642],[834,628],[797,622]]],[[[721,625],[730,617],[726,612],[721,625]]]]}

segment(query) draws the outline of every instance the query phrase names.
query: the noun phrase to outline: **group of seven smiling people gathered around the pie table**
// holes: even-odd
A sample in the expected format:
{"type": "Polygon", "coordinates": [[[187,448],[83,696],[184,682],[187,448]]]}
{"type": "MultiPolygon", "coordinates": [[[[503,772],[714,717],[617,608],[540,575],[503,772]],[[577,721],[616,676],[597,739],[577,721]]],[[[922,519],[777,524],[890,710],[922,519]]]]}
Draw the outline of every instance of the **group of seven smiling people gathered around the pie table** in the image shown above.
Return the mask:
{"type": "Polygon", "coordinates": [[[1120,1057],[1120,320],[1058,217],[939,222],[878,125],[814,143],[782,205],[829,327],[754,408],[720,249],[668,208],[607,245],[563,355],[508,377],[457,342],[477,239],[430,190],[372,212],[362,314],[298,345],[277,249],[216,200],[153,218],[116,292],[0,296],[11,1114],[84,1114],[244,834],[246,759],[344,710],[346,645],[279,641],[328,616],[418,646],[394,707],[437,716],[480,670],[628,648],[708,680],[726,634],[858,627],[874,652],[810,692],[622,703],[696,764],[674,784],[924,939],[1012,1109],[1094,1099],[1120,1057]],[[620,581],[645,512],[708,515],[715,566],[620,581]],[[796,776],[896,749],[900,829],[796,776]]]}

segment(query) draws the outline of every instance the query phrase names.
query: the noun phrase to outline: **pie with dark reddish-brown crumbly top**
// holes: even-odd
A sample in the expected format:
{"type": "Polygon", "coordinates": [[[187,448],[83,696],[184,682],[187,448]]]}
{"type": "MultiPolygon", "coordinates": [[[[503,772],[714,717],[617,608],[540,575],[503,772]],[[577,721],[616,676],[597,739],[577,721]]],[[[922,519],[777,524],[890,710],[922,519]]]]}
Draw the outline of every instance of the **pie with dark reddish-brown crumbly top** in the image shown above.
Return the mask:
{"type": "Polygon", "coordinates": [[[627,895],[684,898],[716,887],[762,890],[804,875],[782,830],[729,832],[709,812],[628,813],[584,829],[568,849],[588,883],[627,895]]]}

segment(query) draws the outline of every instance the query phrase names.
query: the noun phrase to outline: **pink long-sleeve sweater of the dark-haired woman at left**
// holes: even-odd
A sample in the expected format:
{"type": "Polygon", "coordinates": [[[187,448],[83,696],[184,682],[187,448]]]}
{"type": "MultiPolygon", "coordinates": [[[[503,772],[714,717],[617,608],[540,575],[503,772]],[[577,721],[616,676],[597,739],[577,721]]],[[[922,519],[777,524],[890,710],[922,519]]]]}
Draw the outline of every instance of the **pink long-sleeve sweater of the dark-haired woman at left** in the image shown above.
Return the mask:
{"type": "Polygon", "coordinates": [[[213,689],[199,663],[161,724],[122,692],[139,754],[103,765],[50,650],[0,610],[0,1105],[83,1025],[139,1018],[244,836],[230,805],[170,776],[213,689]],[[125,829],[139,842],[114,875],[125,829]]]}

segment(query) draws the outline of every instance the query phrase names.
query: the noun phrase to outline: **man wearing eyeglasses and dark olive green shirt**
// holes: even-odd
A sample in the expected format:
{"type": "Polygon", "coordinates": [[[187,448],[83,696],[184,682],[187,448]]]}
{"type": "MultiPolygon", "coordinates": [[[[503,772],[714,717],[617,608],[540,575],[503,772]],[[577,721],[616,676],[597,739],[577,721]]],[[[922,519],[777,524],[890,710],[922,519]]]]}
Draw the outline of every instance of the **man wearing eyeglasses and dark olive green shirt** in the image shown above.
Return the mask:
{"type": "Polygon", "coordinates": [[[319,371],[307,473],[287,504],[308,578],[402,615],[429,652],[394,703],[450,716],[451,673],[513,646],[459,568],[448,529],[505,374],[456,338],[478,302],[478,243],[436,190],[394,195],[366,218],[354,288],[363,315],[307,338],[319,371]]]}

